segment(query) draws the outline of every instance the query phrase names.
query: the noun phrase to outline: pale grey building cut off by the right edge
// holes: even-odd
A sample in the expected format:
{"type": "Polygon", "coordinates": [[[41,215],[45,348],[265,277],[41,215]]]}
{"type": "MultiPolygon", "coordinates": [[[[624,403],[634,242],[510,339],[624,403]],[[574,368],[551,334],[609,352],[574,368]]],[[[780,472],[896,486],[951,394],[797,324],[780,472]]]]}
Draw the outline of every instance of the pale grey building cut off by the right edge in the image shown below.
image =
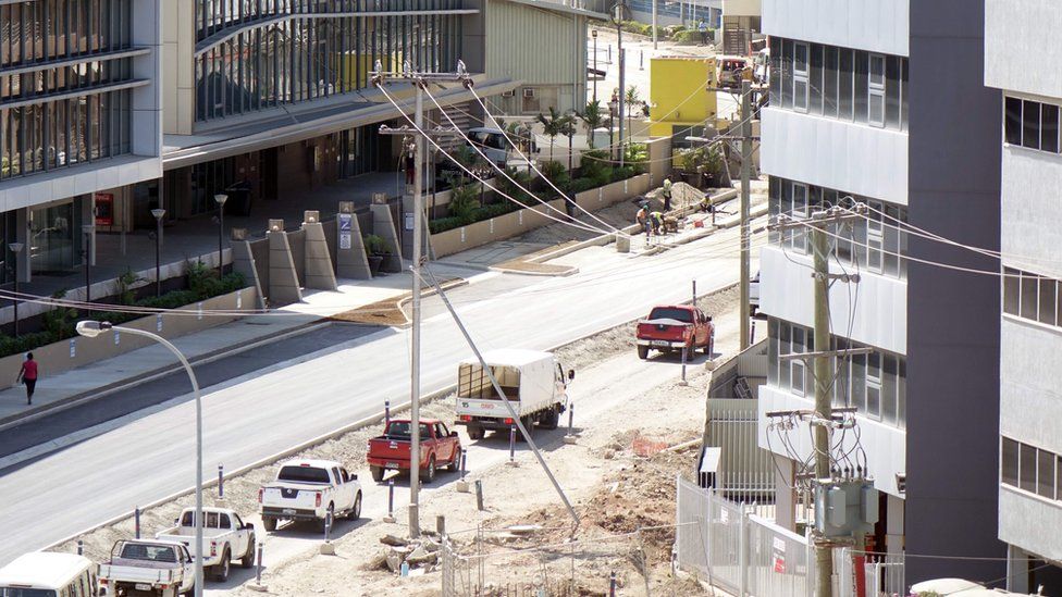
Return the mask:
{"type": "Polygon", "coordinates": [[[989,0],[985,84],[1000,90],[1001,250],[999,538],[1013,590],[1062,592],[1062,185],[1059,113],[1062,13],[1041,2],[989,0]],[[1015,72],[1015,57],[1038,57],[1015,72]],[[1042,57],[1039,58],[1039,57],[1042,57]]]}

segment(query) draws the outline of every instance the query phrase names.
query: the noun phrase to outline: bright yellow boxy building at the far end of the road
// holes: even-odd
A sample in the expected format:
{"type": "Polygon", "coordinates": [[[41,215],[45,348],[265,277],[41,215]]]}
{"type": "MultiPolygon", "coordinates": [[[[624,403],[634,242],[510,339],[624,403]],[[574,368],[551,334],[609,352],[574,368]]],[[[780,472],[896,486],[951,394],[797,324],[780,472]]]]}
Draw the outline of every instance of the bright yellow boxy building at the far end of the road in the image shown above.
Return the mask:
{"type": "Polygon", "coordinates": [[[703,134],[714,126],[717,114],[716,63],[714,58],[660,57],[651,64],[650,135],[682,137],[703,134]],[[695,127],[683,134],[683,129],[695,127]]]}

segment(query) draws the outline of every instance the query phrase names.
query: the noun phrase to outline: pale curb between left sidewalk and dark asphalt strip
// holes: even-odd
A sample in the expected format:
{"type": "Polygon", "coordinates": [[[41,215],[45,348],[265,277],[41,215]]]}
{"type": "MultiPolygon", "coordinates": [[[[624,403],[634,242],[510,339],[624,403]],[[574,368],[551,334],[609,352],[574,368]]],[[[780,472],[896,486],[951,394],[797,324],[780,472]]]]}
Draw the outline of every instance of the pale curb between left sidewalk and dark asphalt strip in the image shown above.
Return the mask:
{"type": "MultiPolygon", "coordinates": [[[[251,316],[254,316],[254,315],[251,315],[251,316]]],[[[314,321],[310,321],[310,322],[304,323],[301,325],[298,325],[296,327],[293,327],[291,329],[287,329],[287,331],[285,331],[285,332],[283,332],[283,333],[281,333],[279,335],[275,335],[275,336],[260,337],[260,338],[257,338],[257,339],[247,340],[247,341],[242,343],[242,344],[230,345],[230,346],[226,346],[224,348],[219,348],[219,349],[215,349],[215,350],[211,350],[210,352],[205,352],[205,353],[196,357],[195,359],[189,359],[188,362],[193,366],[200,365],[200,364],[212,363],[212,362],[214,362],[214,361],[217,361],[219,359],[222,359],[222,358],[225,358],[225,357],[235,356],[235,355],[239,355],[242,352],[246,352],[248,350],[252,350],[252,349],[258,348],[260,346],[264,346],[264,345],[272,344],[272,343],[275,343],[275,341],[280,341],[280,340],[285,340],[285,339],[292,338],[294,336],[299,336],[299,335],[302,335],[302,334],[307,334],[307,333],[313,332],[313,331],[319,329],[321,327],[324,327],[326,325],[331,325],[332,323],[333,322],[323,321],[322,319],[317,319],[314,321]]],[[[172,374],[177,373],[180,371],[183,371],[183,368],[181,366],[180,363],[178,364],[175,364],[175,365],[165,365],[165,366],[157,368],[157,369],[153,369],[151,371],[145,371],[144,373],[140,373],[138,375],[134,375],[132,377],[126,377],[126,378],[124,378],[124,380],[122,380],[120,382],[114,382],[112,384],[109,384],[109,385],[106,385],[106,386],[101,386],[100,388],[95,388],[95,389],[91,389],[89,391],[82,391],[82,393],[75,394],[73,396],[67,396],[65,398],[61,398],[59,400],[55,400],[54,402],[49,402],[48,405],[41,405],[39,407],[36,407],[36,408],[34,408],[32,410],[28,410],[28,411],[24,411],[24,412],[18,413],[18,414],[11,414],[11,415],[8,415],[8,416],[5,416],[3,419],[0,419],[0,431],[9,430],[9,428],[12,428],[12,427],[17,427],[17,426],[23,425],[25,423],[29,423],[32,421],[36,421],[38,419],[41,419],[44,416],[48,416],[48,415],[51,415],[51,414],[55,414],[58,412],[62,412],[62,411],[64,411],[66,409],[76,407],[78,405],[83,405],[83,403],[86,403],[86,402],[91,402],[91,401],[97,400],[99,398],[104,398],[104,397],[110,396],[111,394],[114,394],[116,391],[122,391],[122,390],[125,390],[125,389],[131,389],[131,388],[134,388],[136,386],[143,385],[143,384],[146,384],[146,383],[149,383],[149,382],[153,382],[156,380],[159,380],[161,377],[165,377],[166,375],[172,375],[172,374]]]]}

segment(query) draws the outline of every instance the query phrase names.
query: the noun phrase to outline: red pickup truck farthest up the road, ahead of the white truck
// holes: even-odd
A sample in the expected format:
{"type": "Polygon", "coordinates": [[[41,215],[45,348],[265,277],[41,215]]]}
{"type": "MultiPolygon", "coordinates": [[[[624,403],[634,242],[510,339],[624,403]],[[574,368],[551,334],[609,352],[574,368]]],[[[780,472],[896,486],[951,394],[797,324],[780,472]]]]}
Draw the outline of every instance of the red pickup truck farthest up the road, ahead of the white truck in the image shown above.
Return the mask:
{"type": "Polygon", "coordinates": [[[650,349],[671,352],[687,349],[692,357],[697,348],[712,355],[715,348],[715,325],[696,307],[664,304],[654,307],[649,316],[638,322],[638,358],[647,359],[650,349]]]}

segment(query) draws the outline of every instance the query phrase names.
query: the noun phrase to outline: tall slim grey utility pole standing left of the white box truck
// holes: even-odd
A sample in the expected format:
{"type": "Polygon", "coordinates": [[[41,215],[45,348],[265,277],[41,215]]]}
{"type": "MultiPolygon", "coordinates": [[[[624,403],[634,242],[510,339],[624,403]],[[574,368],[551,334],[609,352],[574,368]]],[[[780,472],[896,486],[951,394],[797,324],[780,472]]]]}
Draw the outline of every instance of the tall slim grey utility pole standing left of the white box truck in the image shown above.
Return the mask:
{"type": "MultiPolygon", "coordinates": [[[[415,129],[424,130],[424,86],[430,82],[465,82],[468,74],[459,65],[458,73],[420,73],[415,72],[409,63],[403,64],[400,73],[385,73],[378,60],[372,83],[382,86],[386,79],[404,79],[412,83],[417,88],[416,113],[413,114],[415,129]]],[[[381,127],[382,135],[409,135],[410,130],[403,127],[392,129],[381,127]]],[[[428,132],[424,132],[428,134],[428,132]]],[[[437,130],[441,134],[452,134],[452,129],[437,130]]],[[[416,134],[413,150],[413,250],[412,250],[412,300],[410,302],[410,358],[409,358],[409,536],[420,536],[420,298],[421,298],[421,265],[424,262],[424,136],[416,134]]]]}

